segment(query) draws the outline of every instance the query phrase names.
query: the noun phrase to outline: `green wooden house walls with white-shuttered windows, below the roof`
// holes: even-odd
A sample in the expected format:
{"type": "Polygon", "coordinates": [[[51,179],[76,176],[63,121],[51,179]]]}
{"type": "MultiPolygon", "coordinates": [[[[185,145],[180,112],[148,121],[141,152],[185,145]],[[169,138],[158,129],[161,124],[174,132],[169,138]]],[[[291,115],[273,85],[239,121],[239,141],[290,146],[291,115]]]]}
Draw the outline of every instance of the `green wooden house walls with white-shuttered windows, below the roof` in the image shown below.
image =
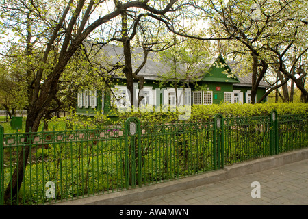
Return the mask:
{"type": "MultiPolygon", "coordinates": [[[[220,62],[225,64],[224,60],[220,58],[220,62]]],[[[211,66],[209,73],[205,74],[201,81],[198,81],[198,86],[194,87],[191,84],[192,93],[191,99],[189,100],[187,96],[183,95],[181,103],[183,104],[219,104],[219,103],[248,103],[249,92],[251,91],[250,87],[237,86],[240,81],[238,78],[229,77],[229,75],[222,72],[229,72],[231,69],[229,66],[211,66]],[[196,101],[194,101],[196,100],[196,101]],[[184,103],[185,102],[185,103],[184,103]]],[[[179,87],[181,82],[178,83],[179,87]]],[[[151,105],[166,105],[168,103],[175,104],[175,88],[172,88],[172,81],[165,83],[166,88],[159,88],[158,81],[149,81],[147,80],[144,83],[144,91],[148,90],[148,99],[150,99],[151,105]],[[173,96],[172,96],[173,95],[173,96]],[[149,97],[151,96],[151,98],[149,97]]],[[[134,89],[138,89],[138,83],[133,84],[134,89]]],[[[117,95],[123,96],[127,95],[126,90],[126,81],[125,79],[120,79],[117,81],[115,88],[118,88],[120,92],[117,95]]],[[[114,91],[116,92],[116,91],[114,91]]],[[[257,89],[257,100],[261,98],[266,92],[266,88],[257,89]]],[[[137,92],[136,92],[137,93],[137,92]]],[[[179,94],[184,94],[181,90],[178,90],[177,96],[179,94]]],[[[189,95],[188,95],[189,96],[189,95]]],[[[81,115],[94,115],[96,112],[103,112],[108,116],[113,116],[111,113],[112,99],[114,96],[110,91],[102,92],[97,91],[97,99],[95,107],[89,105],[88,107],[81,107],[77,104],[77,113],[81,115]],[[103,98],[102,98],[103,96],[103,98]]],[[[120,98],[119,98],[120,99],[120,98]]],[[[118,107],[123,107],[123,103],[127,104],[129,101],[123,99],[121,103],[117,103],[118,107]]],[[[144,99],[145,100],[145,99],[144,99]]],[[[90,100],[88,100],[90,101],[90,100]]],[[[179,99],[178,99],[179,101],[179,99]]],[[[144,103],[149,104],[148,101],[144,103]]],[[[263,101],[264,103],[266,101],[263,101]]],[[[128,105],[129,106],[129,105],[128,105]]],[[[127,107],[127,106],[126,106],[127,107]]]]}

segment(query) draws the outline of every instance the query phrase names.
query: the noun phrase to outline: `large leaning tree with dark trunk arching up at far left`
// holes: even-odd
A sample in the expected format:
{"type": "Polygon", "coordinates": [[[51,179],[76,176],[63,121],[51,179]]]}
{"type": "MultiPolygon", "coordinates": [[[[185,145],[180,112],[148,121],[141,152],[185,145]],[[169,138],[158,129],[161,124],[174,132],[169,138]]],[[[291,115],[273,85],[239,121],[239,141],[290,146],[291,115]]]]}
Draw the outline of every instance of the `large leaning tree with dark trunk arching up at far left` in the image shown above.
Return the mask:
{"type": "MultiPolygon", "coordinates": [[[[175,3],[177,0],[159,1],[159,4],[157,1],[122,3],[116,0],[70,0],[61,1],[60,4],[57,1],[44,3],[38,0],[2,1],[1,13],[4,14],[2,22],[7,27],[18,27],[16,33],[19,37],[23,36],[19,40],[25,43],[23,55],[30,58],[25,59],[25,62],[35,60],[38,64],[34,69],[27,69],[28,110],[25,131],[38,130],[40,120],[49,111],[51,102],[56,97],[59,89],[57,85],[66,65],[82,42],[94,33],[97,27],[134,8],[161,16],[172,11],[175,3]],[[100,8],[106,6],[103,4],[111,3],[116,7],[112,6],[113,9],[110,11],[100,8]],[[34,54],[32,50],[34,48],[40,48],[40,53],[34,54]]],[[[29,146],[26,146],[18,155],[19,168],[14,170],[5,190],[5,200],[15,196],[21,186],[26,164],[24,159],[27,160],[29,157],[29,151],[29,146]]]]}

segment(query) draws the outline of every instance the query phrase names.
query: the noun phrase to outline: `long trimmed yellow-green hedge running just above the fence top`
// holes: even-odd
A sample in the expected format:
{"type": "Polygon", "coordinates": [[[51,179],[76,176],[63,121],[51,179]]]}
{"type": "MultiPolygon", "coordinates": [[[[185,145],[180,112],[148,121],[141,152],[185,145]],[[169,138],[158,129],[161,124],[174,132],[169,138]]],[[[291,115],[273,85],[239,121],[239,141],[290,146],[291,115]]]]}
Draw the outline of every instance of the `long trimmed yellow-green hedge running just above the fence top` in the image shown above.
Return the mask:
{"type": "MultiPolygon", "coordinates": [[[[287,114],[307,114],[308,103],[259,103],[259,104],[213,104],[213,105],[192,105],[191,114],[188,114],[190,122],[207,121],[214,118],[216,114],[222,114],[227,117],[251,117],[251,116],[267,116],[272,110],[277,110],[279,115],[287,114]]],[[[102,115],[97,112],[96,116],[78,116],[70,114],[66,118],[53,118],[54,124],[60,124],[62,121],[67,127],[73,129],[91,129],[101,125],[123,125],[129,117],[139,118],[142,123],[158,125],[166,123],[180,123],[179,115],[184,114],[171,112],[170,107],[168,112],[112,112],[112,116],[102,115]],[[116,119],[115,119],[116,118],[116,119]]],[[[162,111],[162,108],[161,108],[162,111]]],[[[57,128],[56,128],[57,130],[57,128]]]]}

